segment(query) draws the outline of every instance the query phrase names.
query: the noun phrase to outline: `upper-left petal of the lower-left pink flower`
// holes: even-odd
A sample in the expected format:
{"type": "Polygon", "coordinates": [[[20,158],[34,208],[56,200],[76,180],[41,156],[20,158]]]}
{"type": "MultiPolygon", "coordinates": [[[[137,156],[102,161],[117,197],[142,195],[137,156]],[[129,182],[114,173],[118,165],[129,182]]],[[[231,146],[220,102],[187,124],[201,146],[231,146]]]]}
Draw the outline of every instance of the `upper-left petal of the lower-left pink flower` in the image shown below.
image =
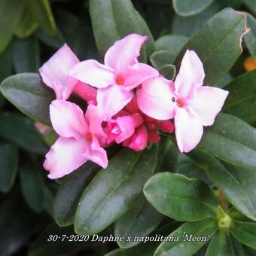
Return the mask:
{"type": "Polygon", "coordinates": [[[50,120],[53,129],[62,137],[78,140],[89,130],[81,108],[65,100],[53,100],[50,104],[50,120]]]}

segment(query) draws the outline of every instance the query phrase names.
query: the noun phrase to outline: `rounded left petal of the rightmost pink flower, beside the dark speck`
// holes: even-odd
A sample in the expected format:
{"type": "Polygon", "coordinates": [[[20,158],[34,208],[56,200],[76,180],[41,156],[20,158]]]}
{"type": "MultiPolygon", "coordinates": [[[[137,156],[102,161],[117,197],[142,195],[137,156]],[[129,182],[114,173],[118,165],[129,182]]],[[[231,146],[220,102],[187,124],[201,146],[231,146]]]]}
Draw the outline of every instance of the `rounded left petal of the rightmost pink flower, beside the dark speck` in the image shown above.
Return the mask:
{"type": "Polygon", "coordinates": [[[142,112],[158,120],[174,117],[173,83],[163,78],[148,79],[137,91],[137,101],[142,112]]]}

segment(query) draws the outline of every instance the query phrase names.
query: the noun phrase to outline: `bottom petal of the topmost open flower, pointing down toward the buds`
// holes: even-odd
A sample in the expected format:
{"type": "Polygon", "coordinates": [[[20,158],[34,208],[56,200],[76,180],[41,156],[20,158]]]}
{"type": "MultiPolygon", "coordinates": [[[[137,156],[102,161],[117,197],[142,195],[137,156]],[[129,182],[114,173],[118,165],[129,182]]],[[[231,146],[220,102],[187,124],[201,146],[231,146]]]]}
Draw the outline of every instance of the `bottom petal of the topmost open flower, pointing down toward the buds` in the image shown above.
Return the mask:
{"type": "Polygon", "coordinates": [[[102,111],[103,120],[110,120],[132,98],[132,92],[118,85],[111,85],[107,88],[99,89],[97,93],[97,107],[102,111]]]}

